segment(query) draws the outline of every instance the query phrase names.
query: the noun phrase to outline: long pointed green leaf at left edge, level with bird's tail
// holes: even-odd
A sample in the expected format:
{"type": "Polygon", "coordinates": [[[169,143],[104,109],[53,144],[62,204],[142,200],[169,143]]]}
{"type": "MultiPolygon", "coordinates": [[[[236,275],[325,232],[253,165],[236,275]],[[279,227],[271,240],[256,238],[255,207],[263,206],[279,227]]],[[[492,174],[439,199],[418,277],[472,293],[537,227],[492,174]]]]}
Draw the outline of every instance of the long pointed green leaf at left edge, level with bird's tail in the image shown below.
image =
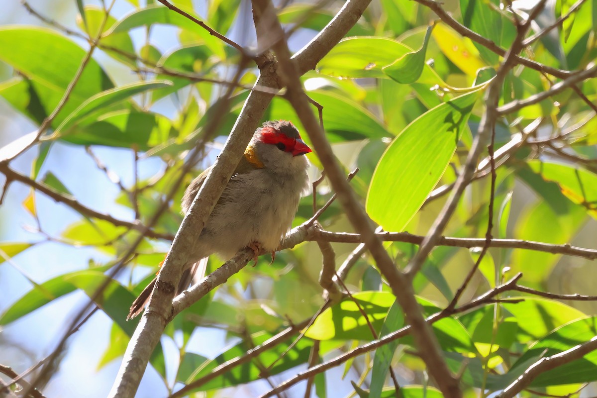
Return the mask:
{"type": "MultiPolygon", "coordinates": [[[[104,271],[110,266],[98,267],[96,270],[104,271]]],[[[4,311],[0,316],[0,325],[8,325],[17,319],[35,311],[39,307],[45,306],[56,298],[62,297],[76,290],[76,287],[72,283],[67,282],[67,277],[76,275],[79,273],[87,272],[75,271],[72,273],[63,274],[53,279],[47,280],[44,283],[40,283],[38,286],[34,286],[29,292],[23,295],[16,303],[12,304],[7,310],[4,311]]]]}

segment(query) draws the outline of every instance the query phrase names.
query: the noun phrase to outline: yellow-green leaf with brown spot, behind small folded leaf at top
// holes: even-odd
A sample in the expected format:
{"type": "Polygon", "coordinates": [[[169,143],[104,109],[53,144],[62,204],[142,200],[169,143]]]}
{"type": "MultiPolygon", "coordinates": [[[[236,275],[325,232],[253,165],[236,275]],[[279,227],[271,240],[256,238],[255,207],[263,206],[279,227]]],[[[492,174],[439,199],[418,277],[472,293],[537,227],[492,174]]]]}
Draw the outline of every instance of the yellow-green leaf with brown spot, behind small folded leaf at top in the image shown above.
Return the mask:
{"type": "MultiPolygon", "coordinates": [[[[381,68],[408,53],[413,53],[413,49],[392,39],[348,38],[341,40],[325,55],[317,69],[319,73],[338,78],[386,78],[381,68]]],[[[444,85],[427,64],[423,66],[418,82],[444,85]]]]}

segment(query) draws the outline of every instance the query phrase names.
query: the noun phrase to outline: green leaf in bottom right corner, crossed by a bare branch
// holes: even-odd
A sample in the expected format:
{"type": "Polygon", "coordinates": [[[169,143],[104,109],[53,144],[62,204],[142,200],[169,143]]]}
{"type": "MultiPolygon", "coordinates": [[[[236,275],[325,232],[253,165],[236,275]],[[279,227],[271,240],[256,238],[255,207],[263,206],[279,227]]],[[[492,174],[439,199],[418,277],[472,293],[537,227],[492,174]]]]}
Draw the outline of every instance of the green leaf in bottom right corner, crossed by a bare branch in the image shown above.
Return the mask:
{"type": "MultiPolygon", "coordinates": [[[[510,372],[524,371],[529,360],[548,357],[569,350],[595,337],[597,317],[571,322],[551,332],[532,345],[512,366],[510,372]]],[[[532,387],[547,387],[597,381],[597,351],[586,354],[581,359],[565,363],[549,371],[542,372],[531,382],[532,387]]]]}

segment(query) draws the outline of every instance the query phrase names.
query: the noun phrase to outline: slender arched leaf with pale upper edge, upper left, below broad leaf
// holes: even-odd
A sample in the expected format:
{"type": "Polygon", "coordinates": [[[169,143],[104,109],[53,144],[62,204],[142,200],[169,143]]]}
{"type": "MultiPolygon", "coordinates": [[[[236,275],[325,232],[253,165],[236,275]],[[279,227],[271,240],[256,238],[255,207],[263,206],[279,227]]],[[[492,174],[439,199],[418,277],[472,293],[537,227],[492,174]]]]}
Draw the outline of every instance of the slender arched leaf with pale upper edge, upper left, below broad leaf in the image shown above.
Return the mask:
{"type": "Polygon", "coordinates": [[[67,129],[73,127],[78,121],[81,121],[81,119],[84,119],[85,116],[89,116],[91,113],[124,101],[141,92],[170,87],[171,85],[171,82],[163,80],[141,81],[100,92],[82,103],[75,112],[67,116],[64,122],[57,128],[56,134],[59,137],[64,137],[64,135],[69,134],[66,131],[67,129]]]}

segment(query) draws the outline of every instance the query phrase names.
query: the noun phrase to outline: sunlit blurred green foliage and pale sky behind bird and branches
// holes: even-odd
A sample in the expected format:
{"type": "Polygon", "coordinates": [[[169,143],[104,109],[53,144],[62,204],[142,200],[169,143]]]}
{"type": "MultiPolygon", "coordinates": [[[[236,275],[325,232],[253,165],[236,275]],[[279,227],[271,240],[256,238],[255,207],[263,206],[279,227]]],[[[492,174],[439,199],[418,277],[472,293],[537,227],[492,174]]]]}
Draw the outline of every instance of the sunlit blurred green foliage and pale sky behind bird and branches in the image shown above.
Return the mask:
{"type": "MultiPolygon", "coordinates": [[[[519,15],[536,4],[514,3],[519,15]]],[[[578,3],[547,2],[529,36],[571,8],[573,13],[522,55],[557,69],[587,67],[597,54],[597,2],[578,3]]],[[[255,45],[250,2],[173,4],[240,45],[255,45]]],[[[341,5],[276,4],[291,50],[303,47],[341,5]]],[[[105,396],[137,324],[125,322],[128,307],[155,274],[168,237],[180,225],[184,187],[214,161],[259,70],[250,65],[244,71],[221,128],[205,131],[210,110],[226,89],[221,82],[235,73],[239,54],[192,21],[152,0],[32,0],[6,7],[0,20],[0,161],[10,163],[0,166],[0,181],[8,186],[0,206],[0,363],[17,373],[51,366],[53,371],[38,384],[47,397],[105,396]],[[89,37],[97,38],[97,45],[89,37]],[[68,90],[66,103],[35,141],[39,126],[68,90]],[[176,186],[184,159],[201,138],[210,139],[204,158],[176,186]],[[56,361],[40,362],[105,280],[104,273],[139,236],[131,223],[149,223],[171,191],[173,199],[153,226],[153,236],[144,237],[133,260],[97,299],[100,310],[69,338],[56,361]]],[[[501,48],[515,39],[514,14],[498,1],[450,0],[442,7],[501,48]]],[[[307,94],[323,106],[327,137],[347,174],[359,168],[353,189],[386,231],[428,232],[470,149],[484,112],[484,90],[501,60],[436,19],[416,1],[373,1],[347,38],[301,78],[307,94]]],[[[506,76],[500,105],[549,90],[559,80],[516,66],[506,76]]],[[[595,247],[597,119],[591,101],[596,90],[595,79],[586,79],[578,84],[581,95],[565,90],[498,119],[494,237],[595,247]]],[[[273,99],[264,116],[269,119],[291,120],[302,131],[284,98],[273,99]]],[[[321,175],[319,161],[309,156],[315,181],[321,175]]],[[[489,170],[485,159],[446,236],[485,236],[489,170]]],[[[316,208],[331,194],[324,180],[317,187],[316,208]]],[[[312,194],[303,199],[294,226],[313,215],[313,200],[312,194]]],[[[319,221],[331,232],[352,232],[336,202],[319,221]]],[[[333,243],[338,266],[355,247],[333,243]]],[[[398,267],[416,252],[409,243],[387,242],[386,247],[398,267]]],[[[427,314],[450,303],[478,253],[445,246],[433,251],[413,281],[427,314]]],[[[267,256],[260,258],[256,267],[236,274],[168,326],[137,396],[170,396],[318,311],[324,298],[316,242],[280,252],[268,263],[267,256]]],[[[210,258],[211,270],[220,264],[221,259],[210,258]]],[[[586,258],[493,248],[460,302],[518,271],[523,273],[520,283],[531,288],[590,295],[597,282],[593,267],[586,258]]],[[[377,333],[404,324],[367,254],[344,282],[377,333]]],[[[467,396],[485,396],[506,387],[545,353],[590,340],[595,313],[590,301],[529,296],[444,319],[434,331],[448,366],[461,374],[467,396]]],[[[290,347],[293,339],[284,341],[190,394],[258,396],[306,369],[315,341],[321,342],[316,356],[325,361],[371,340],[364,317],[346,300],[324,311],[296,345],[290,347]]],[[[403,389],[404,396],[439,396],[410,338],[386,347],[391,347],[399,383],[411,385],[403,389]]],[[[376,355],[365,354],[318,375],[313,396],[368,396],[365,390],[382,385],[382,396],[393,396],[387,367],[373,365],[376,355]]],[[[523,394],[595,395],[595,386],[587,383],[596,375],[597,355],[589,354],[542,375],[531,386],[534,392],[523,394]]],[[[304,390],[305,384],[298,384],[284,396],[304,396],[304,390]]]]}

